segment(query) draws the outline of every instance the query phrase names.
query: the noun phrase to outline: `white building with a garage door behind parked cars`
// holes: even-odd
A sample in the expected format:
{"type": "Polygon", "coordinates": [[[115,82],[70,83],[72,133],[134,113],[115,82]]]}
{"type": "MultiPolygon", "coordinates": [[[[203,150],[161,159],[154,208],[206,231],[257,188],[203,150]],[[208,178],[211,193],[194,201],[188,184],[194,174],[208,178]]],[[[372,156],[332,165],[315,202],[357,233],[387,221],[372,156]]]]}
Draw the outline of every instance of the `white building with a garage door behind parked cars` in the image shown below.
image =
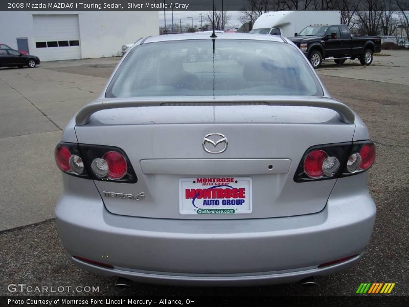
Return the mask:
{"type": "Polygon", "coordinates": [[[158,12],[0,12],[0,43],[41,61],[120,55],[122,45],[159,35],[158,12]]]}

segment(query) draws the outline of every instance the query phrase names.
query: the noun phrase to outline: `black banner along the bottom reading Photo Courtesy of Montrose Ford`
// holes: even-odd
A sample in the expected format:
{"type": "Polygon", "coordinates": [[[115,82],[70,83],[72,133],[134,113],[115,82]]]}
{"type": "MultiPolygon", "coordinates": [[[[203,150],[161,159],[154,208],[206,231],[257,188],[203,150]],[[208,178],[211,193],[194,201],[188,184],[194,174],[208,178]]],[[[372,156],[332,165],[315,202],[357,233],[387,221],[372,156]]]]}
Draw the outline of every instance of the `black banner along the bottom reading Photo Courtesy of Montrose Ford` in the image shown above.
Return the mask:
{"type": "Polygon", "coordinates": [[[344,297],[329,296],[271,296],[271,297],[99,297],[99,296],[12,296],[0,297],[0,306],[2,307],[74,307],[74,306],[407,306],[409,297],[396,297],[379,295],[358,295],[344,297]]]}

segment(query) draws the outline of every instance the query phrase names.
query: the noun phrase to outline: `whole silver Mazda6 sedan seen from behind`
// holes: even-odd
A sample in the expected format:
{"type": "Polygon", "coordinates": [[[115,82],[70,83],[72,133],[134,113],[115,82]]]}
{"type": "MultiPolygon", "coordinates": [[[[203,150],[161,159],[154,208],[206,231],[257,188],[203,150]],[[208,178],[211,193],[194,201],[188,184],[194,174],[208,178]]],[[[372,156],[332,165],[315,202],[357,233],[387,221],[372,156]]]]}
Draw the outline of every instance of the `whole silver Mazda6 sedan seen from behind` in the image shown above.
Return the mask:
{"type": "Polygon", "coordinates": [[[56,216],[70,258],[102,275],[216,286],[354,265],[376,212],[365,124],[292,42],[210,35],[140,39],[65,127],[56,216]]]}

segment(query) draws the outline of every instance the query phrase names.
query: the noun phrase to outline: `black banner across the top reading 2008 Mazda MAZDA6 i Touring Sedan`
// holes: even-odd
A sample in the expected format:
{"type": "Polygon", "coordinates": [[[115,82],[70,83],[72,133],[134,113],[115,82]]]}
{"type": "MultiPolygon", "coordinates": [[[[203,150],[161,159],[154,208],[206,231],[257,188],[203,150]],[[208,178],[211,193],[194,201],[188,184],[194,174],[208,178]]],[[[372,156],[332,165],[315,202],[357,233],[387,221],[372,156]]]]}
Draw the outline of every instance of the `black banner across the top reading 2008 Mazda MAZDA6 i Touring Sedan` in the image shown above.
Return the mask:
{"type": "MultiPolygon", "coordinates": [[[[365,1],[349,0],[348,4],[358,4],[358,10],[370,9],[365,1]]],[[[371,6],[370,10],[388,8],[387,11],[408,8],[409,0],[382,0],[381,6],[371,6]],[[397,5],[399,3],[399,6],[397,5]]],[[[321,2],[320,2],[321,3],[321,2]]],[[[256,11],[277,10],[343,10],[342,0],[326,2],[320,7],[310,0],[214,0],[216,11],[256,11]],[[339,5],[338,5],[339,4],[339,5]]],[[[212,11],[212,0],[1,0],[0,11],[212,11]]]]}

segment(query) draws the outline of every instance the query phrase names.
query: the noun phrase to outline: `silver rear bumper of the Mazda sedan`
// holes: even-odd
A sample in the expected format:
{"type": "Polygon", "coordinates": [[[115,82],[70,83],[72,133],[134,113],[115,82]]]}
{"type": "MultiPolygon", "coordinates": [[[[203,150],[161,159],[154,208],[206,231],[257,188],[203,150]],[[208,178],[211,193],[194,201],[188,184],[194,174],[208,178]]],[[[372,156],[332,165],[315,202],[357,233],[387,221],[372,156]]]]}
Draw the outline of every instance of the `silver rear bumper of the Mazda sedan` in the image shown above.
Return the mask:
{"type": "MultiPolygon", "coordinates": [[[[354,177],[366,181],[366,176],[354,177]]],[[[367,189],[361,189],[355,180],[338,179],[319,213],[199,221],[111,214],[93,182],[75,178],[57,205],[57,226],[70,255],[115,267],[106,269],[72,259],[79,267],[101,275],[180,285],[293,282],[343,270],[362,255],[376,208],[367,189]],[[318,268],[350,255],[357,256],[318,268]]]]}

